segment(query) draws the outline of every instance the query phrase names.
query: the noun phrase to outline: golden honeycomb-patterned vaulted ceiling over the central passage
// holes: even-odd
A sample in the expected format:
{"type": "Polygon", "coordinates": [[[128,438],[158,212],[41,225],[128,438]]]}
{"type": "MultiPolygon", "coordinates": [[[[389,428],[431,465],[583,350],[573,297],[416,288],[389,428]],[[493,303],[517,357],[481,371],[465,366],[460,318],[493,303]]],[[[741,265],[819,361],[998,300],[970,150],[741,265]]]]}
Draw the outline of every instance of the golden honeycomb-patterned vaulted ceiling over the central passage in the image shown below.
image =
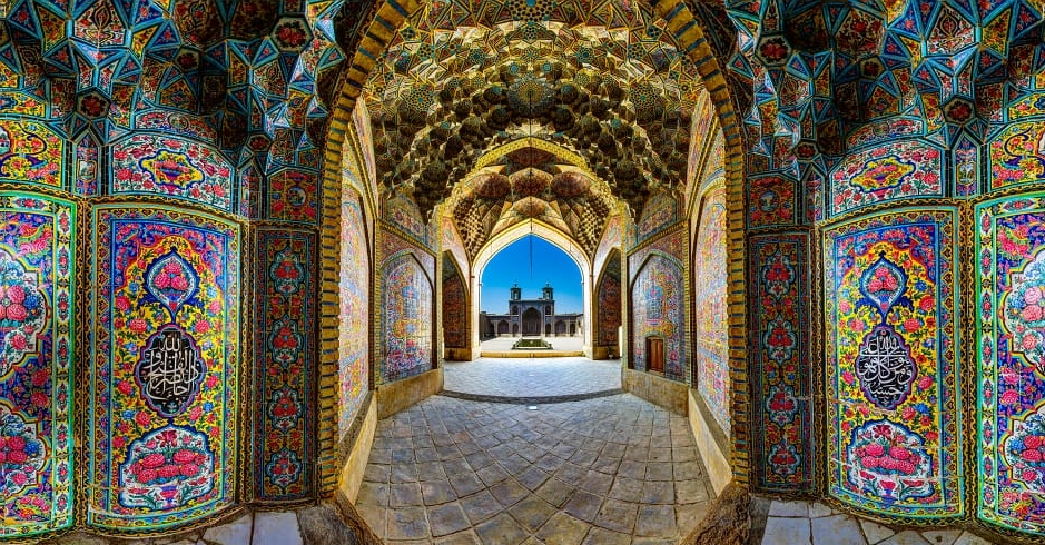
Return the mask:
{"type": "Polygon", "coordinates": [[[641,214],[651,191],[681,189],[690,121],[707,92],[649,10],[620,0],[452,0],[410,16],[363,92],[384,189],[408,189],[427,214],[466,180],[450,209],[471,251],[531,217],[593,250],[588,238],[615,208],[608,194],[641,214]],[[524,138],[578,160],[516,146],[477,165],[524,138]]]}

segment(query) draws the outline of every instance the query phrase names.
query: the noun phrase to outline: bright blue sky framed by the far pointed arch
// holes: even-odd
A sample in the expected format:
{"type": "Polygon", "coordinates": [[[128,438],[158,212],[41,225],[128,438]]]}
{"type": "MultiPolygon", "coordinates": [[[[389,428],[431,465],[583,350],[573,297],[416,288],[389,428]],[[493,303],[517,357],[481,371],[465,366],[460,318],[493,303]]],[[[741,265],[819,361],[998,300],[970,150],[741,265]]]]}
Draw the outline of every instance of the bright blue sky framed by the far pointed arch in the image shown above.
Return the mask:
{"type": "Polygon", "coordinates": [[[555,288],[556,313],[582,313],[581,269],[555,245],[541,237],[526,235],[499,251],[483,270],[481,310],[491,314],[507,311],[509,288],[519,281],[523,299],[541,297],[544,283],[555,288]],[[533,239],[533,278],[530,277],[530,240],[533,239]]]}

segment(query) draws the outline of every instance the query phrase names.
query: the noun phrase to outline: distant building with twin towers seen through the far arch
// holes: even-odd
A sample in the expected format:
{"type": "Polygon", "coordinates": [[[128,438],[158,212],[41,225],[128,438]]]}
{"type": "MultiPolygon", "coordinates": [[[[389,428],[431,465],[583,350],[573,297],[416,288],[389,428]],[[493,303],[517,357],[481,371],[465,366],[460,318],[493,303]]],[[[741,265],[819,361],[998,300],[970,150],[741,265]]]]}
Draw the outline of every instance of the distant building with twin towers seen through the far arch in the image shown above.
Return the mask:
{"type": "Polygon", "coordinates": [[[556,314],[554,288],[545,284],[540,299],[523,299],[519,284],[512,286],[506,314],[479,315],[479,330],[489,337],[573,337],[583,333],[583,313],[556,314]]]}

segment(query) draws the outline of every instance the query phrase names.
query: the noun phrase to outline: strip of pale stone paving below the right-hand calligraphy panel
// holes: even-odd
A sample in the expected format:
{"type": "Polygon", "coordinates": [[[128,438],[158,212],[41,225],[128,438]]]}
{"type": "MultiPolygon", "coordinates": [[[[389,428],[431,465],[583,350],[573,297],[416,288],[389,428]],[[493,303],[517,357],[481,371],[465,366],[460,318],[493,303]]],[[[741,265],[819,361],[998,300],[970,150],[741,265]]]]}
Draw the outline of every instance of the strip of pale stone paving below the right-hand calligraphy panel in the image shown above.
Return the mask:
{"type": "Polygon", "coordinates": [[[990,545],[963,529],[918,529],[874,523],[819,502],[771,501],[762,545],[990,545]]]}

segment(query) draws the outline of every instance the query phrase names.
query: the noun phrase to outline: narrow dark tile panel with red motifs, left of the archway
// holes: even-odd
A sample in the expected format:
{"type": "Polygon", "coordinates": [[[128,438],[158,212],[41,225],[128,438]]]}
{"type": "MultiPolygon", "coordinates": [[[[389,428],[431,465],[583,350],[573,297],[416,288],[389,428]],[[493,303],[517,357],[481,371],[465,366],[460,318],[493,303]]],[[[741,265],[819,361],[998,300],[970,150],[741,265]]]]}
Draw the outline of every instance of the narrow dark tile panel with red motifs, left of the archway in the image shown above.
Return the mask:
{"type": "Polygon", "coordinates": [[[257,497],[309,496],[315,450],[315,235],[257,231],[254,473],[257,497]]]}

